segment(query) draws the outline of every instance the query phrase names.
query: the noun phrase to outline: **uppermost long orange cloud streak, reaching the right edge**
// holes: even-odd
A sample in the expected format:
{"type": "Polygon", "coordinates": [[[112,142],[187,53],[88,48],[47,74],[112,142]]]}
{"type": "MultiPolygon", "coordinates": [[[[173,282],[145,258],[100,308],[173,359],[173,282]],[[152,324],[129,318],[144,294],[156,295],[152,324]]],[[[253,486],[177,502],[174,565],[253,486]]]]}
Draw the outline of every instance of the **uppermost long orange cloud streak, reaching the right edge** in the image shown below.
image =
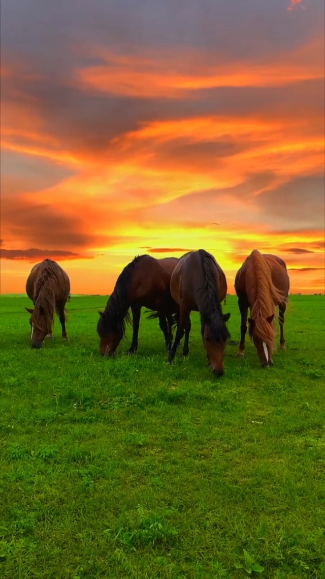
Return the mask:
{"type": "Polygon", "coordinates": [[[93,49],[93,54],[106,64],[80,68],[76,82],[85,90],[146,98],[184,98],[184,92],[191,98],[191,91],[220,87],[285,86],[323,78],[322,62],[316,53],[320,45],[322,40],[294,50],[287,54],[285,61],[260,63],[256,59],[232,62],[231,66],[222,61],[212,63],[211,54],[203,52],[183,52],[177,58],[161,55],[153,59],[120,56],[98,48],[93,49]],[[305,56],[310,52],[315,54],[315,60],[306,65],[305,56]],[[182,63],[182,67],[176,62],[182,63]]]}

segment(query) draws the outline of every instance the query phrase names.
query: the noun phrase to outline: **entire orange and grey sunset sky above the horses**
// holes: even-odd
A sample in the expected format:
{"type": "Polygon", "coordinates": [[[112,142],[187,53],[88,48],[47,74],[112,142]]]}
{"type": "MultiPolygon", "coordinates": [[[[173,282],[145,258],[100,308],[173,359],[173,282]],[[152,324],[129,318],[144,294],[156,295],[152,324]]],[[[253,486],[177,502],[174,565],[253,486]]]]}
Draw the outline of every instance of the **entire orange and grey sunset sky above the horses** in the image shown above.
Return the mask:
{"type": "Polygon", "coordinates": [[[1,293],[253,249],[324,292],[323,0],[2,0],[1,293]]]}

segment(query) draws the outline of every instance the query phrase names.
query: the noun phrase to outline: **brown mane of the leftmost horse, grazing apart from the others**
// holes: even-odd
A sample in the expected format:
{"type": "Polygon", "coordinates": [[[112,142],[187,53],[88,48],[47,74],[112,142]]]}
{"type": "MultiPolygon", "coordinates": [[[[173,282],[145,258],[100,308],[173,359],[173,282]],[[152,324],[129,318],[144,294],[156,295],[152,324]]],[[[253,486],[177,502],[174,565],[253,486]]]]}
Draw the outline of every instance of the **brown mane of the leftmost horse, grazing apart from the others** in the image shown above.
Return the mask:
{"type": "Polygon", "coordinates": [[[46,328],[49,331],[51,331],[54,323],[54,312],[56,310],[56,297],[50,282],[58,279],[52,263],[49,259],[45,259],[40,264],[34,284],[34,323],[38,326],[38,318],[42,314],[46,328]]]}

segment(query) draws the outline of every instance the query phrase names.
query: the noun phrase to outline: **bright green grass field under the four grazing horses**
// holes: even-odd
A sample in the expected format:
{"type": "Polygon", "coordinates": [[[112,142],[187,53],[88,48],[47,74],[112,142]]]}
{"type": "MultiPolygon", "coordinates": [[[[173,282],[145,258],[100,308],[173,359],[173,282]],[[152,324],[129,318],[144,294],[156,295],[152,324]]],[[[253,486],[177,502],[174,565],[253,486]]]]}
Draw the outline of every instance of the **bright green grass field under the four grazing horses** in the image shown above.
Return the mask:
{"type": "Polygon", "coordinates": [[[324,578],[324,296],[290,297],[274,368],[247,339],[221,379],[196,314],[187,360],[144,316],[102,358],[105,303],[72,296],[70,342],[56,320],[31,350],[29,300],[0,299],[0,577],[324,578]]]}

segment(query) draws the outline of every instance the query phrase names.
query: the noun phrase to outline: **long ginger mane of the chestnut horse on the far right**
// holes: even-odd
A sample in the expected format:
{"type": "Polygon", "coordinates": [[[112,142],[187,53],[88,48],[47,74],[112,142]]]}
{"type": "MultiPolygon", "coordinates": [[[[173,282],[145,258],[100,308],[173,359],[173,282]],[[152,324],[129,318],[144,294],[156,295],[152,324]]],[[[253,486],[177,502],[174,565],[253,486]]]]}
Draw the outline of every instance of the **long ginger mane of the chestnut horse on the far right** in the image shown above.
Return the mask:
{"type": "MultiPolygon", "coordinates": [[[[276,316],[275,307],[283,301],[283,295],[272,282],[271,269],[258,250],[253,250],[250,255],[253,260],[254,273],[256,278],[256,299],[250,315],[255,324],[254,331],[258,338],[265,342],[272,351],[275,350],[276,328],[275,321],[270,324],[267,321],[269,316],[276,316]]],[[[249,336],[252,339],[252,327],[249,324],[249,336]]]]}

